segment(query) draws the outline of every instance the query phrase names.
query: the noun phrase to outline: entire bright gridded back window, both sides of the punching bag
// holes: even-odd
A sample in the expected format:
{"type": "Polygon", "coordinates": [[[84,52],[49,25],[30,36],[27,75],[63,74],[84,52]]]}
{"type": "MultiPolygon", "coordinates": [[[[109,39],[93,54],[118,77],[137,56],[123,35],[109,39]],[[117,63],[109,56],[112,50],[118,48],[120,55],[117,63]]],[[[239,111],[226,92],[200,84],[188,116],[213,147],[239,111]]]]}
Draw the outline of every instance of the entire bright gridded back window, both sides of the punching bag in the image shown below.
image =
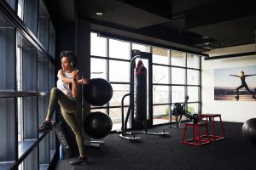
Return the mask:
{"type": "MultiPolygon", "coordinates": [[[[132,49],[152,53],[153,124],[173,122],[175,117],[170,114],[170,109],[174,103],[183,102],[186,95],[189,95],[189,111],[201,111],[200,56],[98,37],[94,32],[90,34],[90,78],[108,80],[113,87],[113,98],[103,107],[91,106],[91,111],[108,113],[113,121],[113,130],[121,128],[121,99],[130,91],[132,49]]],[[[143,64],[148,68],[147,59],[143,59],[143,64]]],[[[125,113],[128,105],[129,99],[126,98],[125,113]]]]}

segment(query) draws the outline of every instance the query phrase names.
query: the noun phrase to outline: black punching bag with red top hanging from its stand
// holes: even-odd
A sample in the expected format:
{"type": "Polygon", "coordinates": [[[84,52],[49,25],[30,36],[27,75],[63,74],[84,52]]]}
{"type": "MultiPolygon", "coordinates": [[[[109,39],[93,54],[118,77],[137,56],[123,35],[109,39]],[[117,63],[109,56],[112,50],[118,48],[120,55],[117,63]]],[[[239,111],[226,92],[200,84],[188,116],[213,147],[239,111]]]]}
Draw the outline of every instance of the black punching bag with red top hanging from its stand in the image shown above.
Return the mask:
{"type": "Polygon", "coordinates": [[[134,119],[147,120],[147,69],[139,60],[134,71],[134,119]]]}

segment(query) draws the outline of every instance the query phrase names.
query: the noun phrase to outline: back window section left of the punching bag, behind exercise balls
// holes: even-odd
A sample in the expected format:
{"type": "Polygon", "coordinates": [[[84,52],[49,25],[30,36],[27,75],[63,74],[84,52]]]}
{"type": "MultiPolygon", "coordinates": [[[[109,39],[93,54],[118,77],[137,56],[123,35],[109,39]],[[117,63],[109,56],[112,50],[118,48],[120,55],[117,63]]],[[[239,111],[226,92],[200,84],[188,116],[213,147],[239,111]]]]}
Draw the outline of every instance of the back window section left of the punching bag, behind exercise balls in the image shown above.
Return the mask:
{"type": "MultiPolygon", "coordinates": [[[[104,78],[112,84],[113,97],[103,108],[91,107],[91,111],[103,111],[113,120],[113,130],[121,128],[121,99],[129,93],[131,42],[97,37],[90,34],[90,78],[104,78]]],[[[125,111],[129,101],[125,100],[125,111]]]]}

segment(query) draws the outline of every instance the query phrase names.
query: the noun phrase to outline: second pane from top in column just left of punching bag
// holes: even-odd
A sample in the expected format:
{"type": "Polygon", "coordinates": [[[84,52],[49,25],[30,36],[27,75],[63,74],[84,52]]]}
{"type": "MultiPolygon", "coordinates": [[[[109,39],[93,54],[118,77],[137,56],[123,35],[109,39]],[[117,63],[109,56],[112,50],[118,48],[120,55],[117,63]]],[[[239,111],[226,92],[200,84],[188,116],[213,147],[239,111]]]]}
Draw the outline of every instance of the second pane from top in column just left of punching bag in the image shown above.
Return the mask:
{"type": "Polygon", "coordinates": [[[130,63],[124,61],[109,60],[109,81],[130,82],[130,63]]]}

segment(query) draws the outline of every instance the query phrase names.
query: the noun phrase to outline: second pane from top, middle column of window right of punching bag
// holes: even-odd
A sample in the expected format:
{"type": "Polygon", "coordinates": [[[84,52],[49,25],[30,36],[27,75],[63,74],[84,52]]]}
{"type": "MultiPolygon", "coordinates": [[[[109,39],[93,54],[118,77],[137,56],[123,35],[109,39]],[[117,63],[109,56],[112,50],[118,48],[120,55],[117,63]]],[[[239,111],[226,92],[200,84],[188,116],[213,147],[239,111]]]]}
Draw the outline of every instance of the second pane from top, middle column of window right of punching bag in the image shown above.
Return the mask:
{"type": "Polygon", "coordinates": [[[185,84],[185,69],[172,67],[172,84],[185,84]]]}

